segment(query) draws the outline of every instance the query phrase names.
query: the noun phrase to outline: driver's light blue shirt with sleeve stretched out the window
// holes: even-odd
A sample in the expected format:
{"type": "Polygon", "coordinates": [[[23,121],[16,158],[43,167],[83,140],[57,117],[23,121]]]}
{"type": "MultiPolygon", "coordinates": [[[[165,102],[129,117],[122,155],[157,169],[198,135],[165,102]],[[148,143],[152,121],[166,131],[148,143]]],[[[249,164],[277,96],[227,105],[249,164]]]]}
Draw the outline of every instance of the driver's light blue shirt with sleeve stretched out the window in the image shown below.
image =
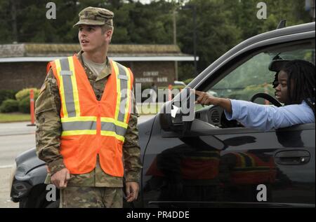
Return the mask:
{"type": "Polygon", "coordinates": [[[301,104],[288,106],[268,106],[230,99],[232,114],[225,111],[228,120],[237,120],[245,127],[258,130],[289,127],[303,123],[315,123],[315,116],[310,106],[303,101],[301,104]]]}

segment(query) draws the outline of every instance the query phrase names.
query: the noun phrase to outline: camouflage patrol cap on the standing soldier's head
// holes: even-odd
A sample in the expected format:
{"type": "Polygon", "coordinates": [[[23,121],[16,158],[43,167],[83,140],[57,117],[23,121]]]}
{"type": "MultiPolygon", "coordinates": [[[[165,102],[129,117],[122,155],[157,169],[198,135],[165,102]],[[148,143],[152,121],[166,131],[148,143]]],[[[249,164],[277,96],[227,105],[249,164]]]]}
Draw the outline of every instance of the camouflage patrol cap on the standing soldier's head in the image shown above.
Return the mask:
{"type": "Polygon", "coordinates": [[[88,7],[84,8],[79,13],[79,22],[77,25],[110,25],[113,26],[113,17],[114,13],[112,11],[107,10],[105,8],[94,8],[88,7]]]}

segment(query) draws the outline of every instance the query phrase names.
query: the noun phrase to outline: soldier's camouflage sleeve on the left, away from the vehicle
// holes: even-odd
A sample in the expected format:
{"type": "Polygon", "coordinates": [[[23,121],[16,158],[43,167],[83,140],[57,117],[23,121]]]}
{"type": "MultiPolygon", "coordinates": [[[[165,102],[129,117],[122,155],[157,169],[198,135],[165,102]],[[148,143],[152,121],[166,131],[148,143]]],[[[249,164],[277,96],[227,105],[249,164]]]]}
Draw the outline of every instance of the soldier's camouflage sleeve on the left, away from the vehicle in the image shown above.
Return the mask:
{"type": "Polygon", "coordinates": [[[39,159],[46,162],[51,174],[65,168],[60,154],[60,95],[53,71],[48,71],[35,102],[37,120],[36,147],[39,159]]]}

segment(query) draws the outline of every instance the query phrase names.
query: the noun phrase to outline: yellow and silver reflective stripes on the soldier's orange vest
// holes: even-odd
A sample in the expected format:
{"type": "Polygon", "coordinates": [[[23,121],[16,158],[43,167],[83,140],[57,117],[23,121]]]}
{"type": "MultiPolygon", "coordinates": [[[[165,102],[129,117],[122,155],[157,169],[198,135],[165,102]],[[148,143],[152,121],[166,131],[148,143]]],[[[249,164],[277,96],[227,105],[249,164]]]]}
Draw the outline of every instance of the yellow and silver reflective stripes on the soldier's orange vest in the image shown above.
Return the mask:
{"type": "MultiPolygon", "coordinates": [[[[112,61],[112,66],[117,77],[117,107],[114,118],[100,118],[100,134],[124,141],[128,126],[126,120],[131,109],[131,90],[129,89],[131,76],[129,70],[121,64],[112,61]]],[[[62,136],[97,134],[97,117],[80,116],[79,94],[72,57],[55,60],[55,67],[60,81],[62,136]]]]}

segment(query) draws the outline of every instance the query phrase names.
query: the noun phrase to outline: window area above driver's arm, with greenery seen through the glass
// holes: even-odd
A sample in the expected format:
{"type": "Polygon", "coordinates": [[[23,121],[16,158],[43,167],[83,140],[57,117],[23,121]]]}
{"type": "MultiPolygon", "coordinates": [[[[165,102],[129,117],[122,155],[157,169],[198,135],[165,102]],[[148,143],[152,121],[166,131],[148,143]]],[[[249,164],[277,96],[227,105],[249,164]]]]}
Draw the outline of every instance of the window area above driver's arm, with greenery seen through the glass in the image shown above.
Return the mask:
{"type": "MultiPolygon", "coordinates": [[[[314,43],[315,44],[315,43],[314,43]]],[[[213,85],[207,92],[215,97],[227,97],[230,99],[242,99],[249,101],[258,92],[265,92],[274,97],[275,90],[272,88],[272,81],[275,72],[268,69],[273,58],[283,60],[308,60],[315,63],[315,47],[313,44],[300,46],[287,46],[287,48],[274,48],[265,50],[250,57],[238,67],[230,71],[218,83],[213,85]]],[[[258,104],[269,104],[265,99],[258,98],[258,104]]],[[[196,111],[202,109],[197,104],[196,111]]]]}

